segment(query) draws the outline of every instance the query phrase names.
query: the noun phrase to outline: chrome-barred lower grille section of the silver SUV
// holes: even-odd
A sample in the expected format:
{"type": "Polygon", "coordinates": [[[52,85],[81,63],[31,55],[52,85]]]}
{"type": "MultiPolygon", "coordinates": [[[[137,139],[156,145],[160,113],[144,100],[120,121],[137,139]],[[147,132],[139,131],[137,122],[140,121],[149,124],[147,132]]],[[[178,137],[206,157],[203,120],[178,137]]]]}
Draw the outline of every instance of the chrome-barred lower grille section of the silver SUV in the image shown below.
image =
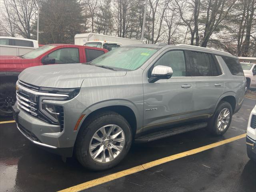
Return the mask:
{"type": "Polygon", "coordinates": [[[38,116],[37,104],[31,101],[28,95],[17,91],[16,98],[17,98],[17,104],[22,110],[28,112],[33,116],[38,116]]]}

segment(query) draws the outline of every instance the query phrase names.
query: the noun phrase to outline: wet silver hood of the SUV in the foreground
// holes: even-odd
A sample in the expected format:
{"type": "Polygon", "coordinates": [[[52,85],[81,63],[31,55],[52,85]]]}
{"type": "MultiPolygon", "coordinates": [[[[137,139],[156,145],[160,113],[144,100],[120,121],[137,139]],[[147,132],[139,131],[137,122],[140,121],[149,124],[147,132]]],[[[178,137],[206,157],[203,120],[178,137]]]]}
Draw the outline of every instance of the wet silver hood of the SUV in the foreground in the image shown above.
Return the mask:
{"type": "Polygon", "coordinates": [[[85,78],[125,75],[125,71],[87,64],[54,64],[27,68],[20,73],[19,80],[39,87],[78,88],[85,78]]]}

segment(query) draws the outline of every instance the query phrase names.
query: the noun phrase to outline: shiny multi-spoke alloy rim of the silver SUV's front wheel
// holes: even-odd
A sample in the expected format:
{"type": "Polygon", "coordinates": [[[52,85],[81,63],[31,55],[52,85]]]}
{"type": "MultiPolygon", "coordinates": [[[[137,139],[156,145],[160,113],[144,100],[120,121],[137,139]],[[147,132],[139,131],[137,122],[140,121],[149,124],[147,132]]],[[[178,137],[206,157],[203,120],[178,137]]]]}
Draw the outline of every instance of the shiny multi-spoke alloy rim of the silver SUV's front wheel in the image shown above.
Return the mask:
{"type": "Polygon", "coordinates": [[[110,124],[98,129],[90,141],[89,152],[92,159],[99,163],[114,160],[123,150],[124,131],[120,126],[110,124]]]}

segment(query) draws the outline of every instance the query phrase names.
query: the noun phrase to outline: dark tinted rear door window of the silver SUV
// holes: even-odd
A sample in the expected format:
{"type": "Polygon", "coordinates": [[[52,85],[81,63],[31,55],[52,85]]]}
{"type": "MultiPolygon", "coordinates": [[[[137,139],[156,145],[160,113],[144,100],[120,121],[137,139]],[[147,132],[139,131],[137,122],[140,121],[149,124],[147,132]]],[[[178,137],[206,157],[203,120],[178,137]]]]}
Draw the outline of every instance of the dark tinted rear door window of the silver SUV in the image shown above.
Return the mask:
{"type": "Polygon", "coordinates": [[[192,76],[218,76],[220,66],[216,64],[211,54],[203,52],[189,52],[192,76]]]}

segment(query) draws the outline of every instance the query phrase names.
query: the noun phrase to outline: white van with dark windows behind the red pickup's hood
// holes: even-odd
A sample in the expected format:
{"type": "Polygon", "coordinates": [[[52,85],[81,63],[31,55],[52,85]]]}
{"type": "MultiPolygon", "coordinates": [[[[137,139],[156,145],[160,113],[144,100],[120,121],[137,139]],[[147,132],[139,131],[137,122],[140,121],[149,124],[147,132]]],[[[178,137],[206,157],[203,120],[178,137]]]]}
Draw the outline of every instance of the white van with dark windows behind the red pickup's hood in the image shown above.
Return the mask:
{"type": "Polygon", "coordinates": [[[36,48],[36,40],[0,36],[0,55],[20,56],[36,48]]]}

